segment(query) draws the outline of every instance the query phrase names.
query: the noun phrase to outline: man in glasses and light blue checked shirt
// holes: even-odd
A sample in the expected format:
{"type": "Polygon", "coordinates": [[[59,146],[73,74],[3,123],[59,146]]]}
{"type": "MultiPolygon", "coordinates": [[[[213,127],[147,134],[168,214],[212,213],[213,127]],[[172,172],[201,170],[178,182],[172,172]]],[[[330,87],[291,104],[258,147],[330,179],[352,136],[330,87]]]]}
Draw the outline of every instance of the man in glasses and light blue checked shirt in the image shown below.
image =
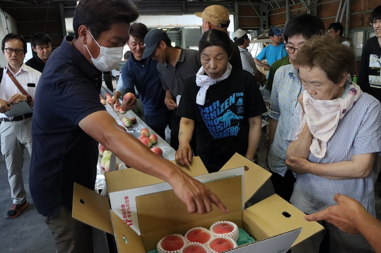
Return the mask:
{"type": "Polygon", "coordinates": [[[289,142],[286,137],[291,127],[291,118],[298,103],[298,97],[304,91],[299,80],[299,67],[293,65],[299,47],[312,35],[324,31],[323,21],[311,14],[300,14],[287,21],[283,37],[284,49],[288,52],[291,64],[281,66],[274,76],[270,98],[267,164],[272,173],[271,182],[276,194],[290,201],[295,177],[285,165],[289,142]],[[303,24],[303,25],[300,25],[303,24]]]}

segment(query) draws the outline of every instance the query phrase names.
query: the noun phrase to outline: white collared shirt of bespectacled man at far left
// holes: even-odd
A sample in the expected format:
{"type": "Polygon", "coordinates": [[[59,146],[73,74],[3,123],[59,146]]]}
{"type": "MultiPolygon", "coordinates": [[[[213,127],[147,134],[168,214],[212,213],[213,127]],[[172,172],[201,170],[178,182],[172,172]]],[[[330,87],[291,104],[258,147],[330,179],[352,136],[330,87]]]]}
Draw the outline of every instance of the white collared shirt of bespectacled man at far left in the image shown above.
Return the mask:
{"type": "MultiPolygon", "coordinates": [[[[9,68],[9,63],[3,70],[3,78],[0,84],[0,98],[9,101],[14,94],[22,94],[22,92],[17,88],[16,84],[12,81],[11,77],[8,76],[6,70],[9,68]]],[[[24,88],[24,90],[34,98],[34,93],[36,91],[38,80],[40,80],[41,73],[31,68],[25,63],[22,63],[20,70],[17,73],[13,73],[9,69],[19,84],[24,88]],[[28,87],[28,84],[35,84],[35,87],[28,87]]],[[[7,116],[0,113],[0,118],[6,118],[7,116]]]]}

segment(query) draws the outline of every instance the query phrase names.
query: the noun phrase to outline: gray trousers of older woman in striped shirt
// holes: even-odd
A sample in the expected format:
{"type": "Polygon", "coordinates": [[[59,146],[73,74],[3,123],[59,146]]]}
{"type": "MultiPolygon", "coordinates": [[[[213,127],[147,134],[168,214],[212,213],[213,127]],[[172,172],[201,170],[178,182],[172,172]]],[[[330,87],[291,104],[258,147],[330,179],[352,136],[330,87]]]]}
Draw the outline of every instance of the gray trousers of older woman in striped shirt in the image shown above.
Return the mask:
{"type": "Polygon", "coordinates": [[[325,231],[330,232],[330,252],[335,253],[373,253],[373,249],[360,234],[347,234],[327,221],[319,221],[324,230],[304,240],[291,249],[291,253],[318,253],[325,231]]]}

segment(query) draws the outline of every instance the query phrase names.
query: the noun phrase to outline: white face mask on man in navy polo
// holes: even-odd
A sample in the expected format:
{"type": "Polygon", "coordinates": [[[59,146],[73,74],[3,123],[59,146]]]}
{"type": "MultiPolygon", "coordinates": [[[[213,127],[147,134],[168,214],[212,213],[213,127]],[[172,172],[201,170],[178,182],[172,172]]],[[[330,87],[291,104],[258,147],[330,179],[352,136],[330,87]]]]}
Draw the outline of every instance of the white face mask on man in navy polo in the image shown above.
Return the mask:
{"type": "MultiPolygon", "coordinates": [[[[98,42],[94,39],[93,35],[91,34],[90,30],[88,30],[91,37],[95,41],[95,43],[99,46],[98,42]]],[[[123,47],[103,47],[99,46],[101,48],[101,51],[99,52],[99,56],[97,59],[94,59],[91,55],[89,49],[86,49],[89,52],[91,56],[91,61],[94,63],[94,66],[98,68],[100,71],[111,71],[114,70],[120,61],[122,60],[122,54],[123,54],[123,47]]]]}

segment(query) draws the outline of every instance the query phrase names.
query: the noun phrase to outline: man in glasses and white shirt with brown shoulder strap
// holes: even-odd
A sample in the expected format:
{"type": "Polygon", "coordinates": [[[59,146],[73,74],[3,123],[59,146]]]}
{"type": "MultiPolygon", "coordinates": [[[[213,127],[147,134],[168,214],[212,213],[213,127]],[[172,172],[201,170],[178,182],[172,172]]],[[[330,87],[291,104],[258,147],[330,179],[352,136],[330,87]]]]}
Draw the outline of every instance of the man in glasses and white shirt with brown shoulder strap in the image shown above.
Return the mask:
{"type": "Polygon", "coordinates": [[[14,218],[29,202],[26,200],[26,191],[22,179],[22,165],[24,163],[24,149],[32,152],[32,113],[8,117],[4,113],[10,111],[13,104],[26,100],[30,106],[34,103],[34,93],[41,73],[24,64],[27,52],[26,41],[21,35],[7,34],[2,41],[2,51],[8,61],[2,73],[0,85],[0,124],[1,152],[8,169],[8,181],[11,187],[12,207],[5,217],[14,218]],[[13,77],[25,90],[27,95],[16,86],[13,77]]]}

